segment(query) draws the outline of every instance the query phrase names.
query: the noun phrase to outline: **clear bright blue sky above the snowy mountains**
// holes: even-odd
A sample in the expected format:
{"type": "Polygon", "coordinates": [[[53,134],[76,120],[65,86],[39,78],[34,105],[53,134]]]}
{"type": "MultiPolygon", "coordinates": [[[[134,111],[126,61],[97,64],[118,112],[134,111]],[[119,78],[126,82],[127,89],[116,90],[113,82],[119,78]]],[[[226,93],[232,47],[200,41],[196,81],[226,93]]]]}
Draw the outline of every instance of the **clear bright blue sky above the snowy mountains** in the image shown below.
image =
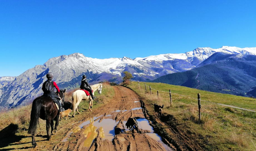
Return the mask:
{"type": "Polygon", "coordinates": [[[60,55],[256,47],[256,0],[0,0],[0,77],[60,55]]]}

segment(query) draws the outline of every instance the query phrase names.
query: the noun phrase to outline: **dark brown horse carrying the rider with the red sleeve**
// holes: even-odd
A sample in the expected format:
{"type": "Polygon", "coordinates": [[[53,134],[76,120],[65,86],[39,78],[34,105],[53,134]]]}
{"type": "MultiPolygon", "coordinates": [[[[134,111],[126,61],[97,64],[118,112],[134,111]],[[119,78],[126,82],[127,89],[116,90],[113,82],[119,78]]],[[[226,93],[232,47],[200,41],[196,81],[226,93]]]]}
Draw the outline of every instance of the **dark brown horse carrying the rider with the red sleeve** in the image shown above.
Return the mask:
{"type": "MultiPolygon", "coordinates": [[[[60,90],[59,97],[64,101],[64,93],[66,89],[60,90]]],[[[35,134],[37,133],[37,125],[39,125],[39,118],[46,120],[46,131],[47,131],[47,140],[51,139],[49,133],[51,125],[51,134],[55,134],[58,127],[59,111],[51,99],[51,97],[40,96],[37,97],[32,103],[30,123],[28,128],[28,133],[32,135],[32,146],[33,148],[37,147],[35,140],[35,134]],[[53,120],[55,121],[55,127],[53,129],[53,120]]]]}

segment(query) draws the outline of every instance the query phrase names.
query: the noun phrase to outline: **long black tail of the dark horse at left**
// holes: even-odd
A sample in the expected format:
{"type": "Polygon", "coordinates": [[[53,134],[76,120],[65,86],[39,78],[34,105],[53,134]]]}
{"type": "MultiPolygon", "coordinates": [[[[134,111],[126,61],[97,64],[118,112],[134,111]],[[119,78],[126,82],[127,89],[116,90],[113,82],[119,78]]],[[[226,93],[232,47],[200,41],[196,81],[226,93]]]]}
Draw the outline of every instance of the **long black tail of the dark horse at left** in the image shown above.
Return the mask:
{"type": "Polygon", "coordinates": [[[30,115],[30,122],[28,127],[29,134],[36,134],[37,133],[37,125],[39,125],[39,115],[42,106],[42,100],[37,99],[34,100],[32,103],[32,110],[30,115]]]}

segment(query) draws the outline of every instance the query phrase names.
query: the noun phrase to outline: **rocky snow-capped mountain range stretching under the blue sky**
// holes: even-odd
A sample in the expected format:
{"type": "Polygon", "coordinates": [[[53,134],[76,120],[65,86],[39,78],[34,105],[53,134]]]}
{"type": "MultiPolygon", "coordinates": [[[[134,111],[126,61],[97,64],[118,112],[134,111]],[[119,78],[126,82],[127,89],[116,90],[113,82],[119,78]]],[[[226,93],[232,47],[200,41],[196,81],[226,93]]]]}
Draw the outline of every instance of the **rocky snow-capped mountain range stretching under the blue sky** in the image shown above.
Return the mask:
{"type": "Polygon", "coordinates": [[[135,59],[96,59],[80,53],[62,55],[27,70],[15,79],[10,78],[13,80],[0,88],[0,106],[30,103],[42,95],[41,87],[48,72],[53,73],[53,80],[60,88],[77,87],[82,74],[86,74],[92,84],[102,80],[120,82],[124,71],[132,73],[134,80],[147,81],[169,73],[191,70],[215,52],[256,55],[256,48],[196,48],[184,54],[159,54],[135,59]]]}

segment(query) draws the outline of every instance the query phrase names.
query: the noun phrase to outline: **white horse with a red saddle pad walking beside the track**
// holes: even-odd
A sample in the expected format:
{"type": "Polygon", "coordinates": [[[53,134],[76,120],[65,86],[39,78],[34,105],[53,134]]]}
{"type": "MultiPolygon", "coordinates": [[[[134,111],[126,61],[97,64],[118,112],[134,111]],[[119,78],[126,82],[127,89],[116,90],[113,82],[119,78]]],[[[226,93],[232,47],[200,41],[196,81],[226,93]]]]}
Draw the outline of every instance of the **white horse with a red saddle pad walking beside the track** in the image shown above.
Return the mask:
{"type": "MultiPolygon", "coordinates": [[[[93,95],[94,95],[95,91],[98,91],[98,93],[101,94],[101,92],[102,92],[102,83],[91,85],[91,89],[93,90],[93,92],[92,92],[93,95]]],[[[72,94],[72,106],[73,106],[72,110],[74,111],[73,117],[75,116],[76,111],[80,115],[80,113],[77,109],[77,106],[79,105],[79,103],[82,100],[89,100],[89,99],[90,99],[89,110],[91,111],[91,108],[92,108],[92,105],[93,105],[93,99],[90,96],[86,96],[86,94],[83,90],[77,90],[72,94]]]]}

